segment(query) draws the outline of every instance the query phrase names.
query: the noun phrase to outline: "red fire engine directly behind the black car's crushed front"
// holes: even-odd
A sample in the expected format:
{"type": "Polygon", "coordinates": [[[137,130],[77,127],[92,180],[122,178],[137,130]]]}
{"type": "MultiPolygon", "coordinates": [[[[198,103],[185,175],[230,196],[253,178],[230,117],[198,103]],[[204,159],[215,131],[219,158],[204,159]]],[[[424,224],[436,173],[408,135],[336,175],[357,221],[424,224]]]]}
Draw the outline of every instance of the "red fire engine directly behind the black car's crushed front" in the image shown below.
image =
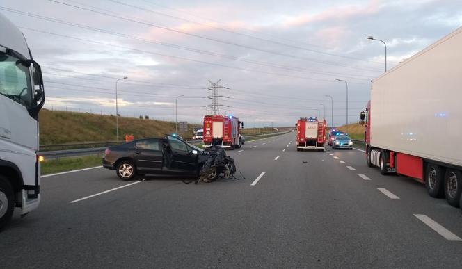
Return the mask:
{"type": "Polygon", "coordinates": [[[204,145],[218,145],[228,149],[239,149],[244,144],[241,136],[244,122],[232,115],[206,115],[204,117],[204,145]]]}

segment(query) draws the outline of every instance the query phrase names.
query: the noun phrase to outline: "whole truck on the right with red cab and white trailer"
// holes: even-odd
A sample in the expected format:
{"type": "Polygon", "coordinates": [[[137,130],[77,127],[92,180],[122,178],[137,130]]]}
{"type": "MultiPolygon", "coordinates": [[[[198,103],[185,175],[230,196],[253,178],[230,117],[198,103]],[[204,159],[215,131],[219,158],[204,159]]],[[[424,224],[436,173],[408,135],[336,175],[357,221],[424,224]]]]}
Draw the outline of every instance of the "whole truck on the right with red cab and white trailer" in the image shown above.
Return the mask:
{"type": "Polygon", "coordinates": [[[462,28],[374,79],[371,90],[360,121],[367,164],[413,177],[459,206],[462,28]]]}

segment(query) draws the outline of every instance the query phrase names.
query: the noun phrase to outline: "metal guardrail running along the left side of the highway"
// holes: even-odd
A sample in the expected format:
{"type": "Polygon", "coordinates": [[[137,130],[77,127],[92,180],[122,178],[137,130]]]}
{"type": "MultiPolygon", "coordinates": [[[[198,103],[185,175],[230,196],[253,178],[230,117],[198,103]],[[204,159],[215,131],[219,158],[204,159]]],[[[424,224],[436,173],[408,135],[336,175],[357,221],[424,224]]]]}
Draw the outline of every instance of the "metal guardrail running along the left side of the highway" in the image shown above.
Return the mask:
{"type": "MultiPolygon", "coordinates": [[[[264,137],[264,136],[278,136],[282,135],[285,133],[289,133],[289,131],[285,132],[278,132],[278,133],[264,133],[260,135],[253,135],[253,136],[245,136],[246,138],[254,138],[254,137],[264,137]]],[[[202,142],[202,139],[200,140],[186,140],[185,142],[191,143],[191,144],[198,144],[202,142]]],[[[62,149],[62,150],[52,150],[52,151],[40,151],[38,154],[40,156],[44,156],[45,158],[63,158],[63,157],[73,157],[73,156],[85,156],[85,155],[93,155],[93,154],[103,154],[104,150],[106,147],[109,147],[111,145],[119,145],[123,144],[125,142],[89,142],[89,143],[80,143],[80,144],[61,144],[61,145],[46,145],[48,147],[51,146],[56,146],[56,147],[63,147],[63,146],[92,146],[88,148],[78,148],[78,149],[62,149]],[[104,147],[94,147],[95,145],[105,145],[104,147]]],[[[44,146],[42,146],[44,147],[44,146]]],[[[42,148],[40,147],[40,148],[42,148]]]]}

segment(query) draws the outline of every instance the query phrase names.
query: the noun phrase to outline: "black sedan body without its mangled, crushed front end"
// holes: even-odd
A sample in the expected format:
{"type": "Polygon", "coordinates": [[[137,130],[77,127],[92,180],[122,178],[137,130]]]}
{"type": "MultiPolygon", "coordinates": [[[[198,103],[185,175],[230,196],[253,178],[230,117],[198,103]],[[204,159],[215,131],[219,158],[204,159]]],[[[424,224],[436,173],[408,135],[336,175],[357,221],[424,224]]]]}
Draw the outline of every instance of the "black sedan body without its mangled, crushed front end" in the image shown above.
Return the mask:
{"type": "Polygon", "coordinates": [[[136,175],[170,174],[198,177],[207,152],[174,136],[143,138],[106,149],[103,167],[120,179],[136,175]]]}

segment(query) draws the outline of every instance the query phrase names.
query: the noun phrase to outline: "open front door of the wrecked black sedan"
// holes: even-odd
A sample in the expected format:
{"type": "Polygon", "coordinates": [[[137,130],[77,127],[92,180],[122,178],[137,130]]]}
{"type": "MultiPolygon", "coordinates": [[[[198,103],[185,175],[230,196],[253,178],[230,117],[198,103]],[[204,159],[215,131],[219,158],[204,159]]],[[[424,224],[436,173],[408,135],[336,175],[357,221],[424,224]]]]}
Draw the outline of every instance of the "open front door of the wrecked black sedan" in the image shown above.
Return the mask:
{"type": "Polygon", "coordinates": [[[196,170],[198,154],[193,154],[191,148],[182,140],[173,136],[167,136],[168,145],[172,150],[172,160],[170,168],[173,170],[183,170],[193,172],[196,170]]]}

